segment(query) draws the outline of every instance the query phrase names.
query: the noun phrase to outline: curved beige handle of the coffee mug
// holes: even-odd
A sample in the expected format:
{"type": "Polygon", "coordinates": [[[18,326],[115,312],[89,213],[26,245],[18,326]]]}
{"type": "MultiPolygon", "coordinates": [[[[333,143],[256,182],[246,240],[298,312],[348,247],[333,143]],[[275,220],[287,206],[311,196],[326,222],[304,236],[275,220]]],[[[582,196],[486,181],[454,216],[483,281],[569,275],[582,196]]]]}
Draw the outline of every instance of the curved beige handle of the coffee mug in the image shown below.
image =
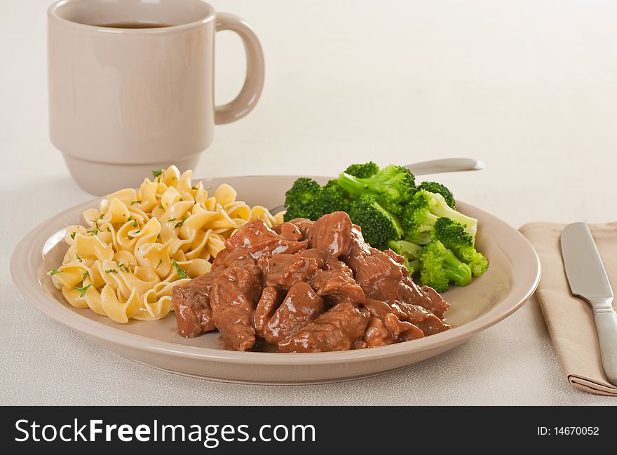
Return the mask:
{"type": "Polygon", "coordinates": [[[222,30],[236,32],[242,39],[246,51],[246,79],[234,100],[215,106],[217,125],[239,120],[252,111],[264,88],[264,53],[250,25],[233,14],[217,13],[217,32],[222,30]]]}

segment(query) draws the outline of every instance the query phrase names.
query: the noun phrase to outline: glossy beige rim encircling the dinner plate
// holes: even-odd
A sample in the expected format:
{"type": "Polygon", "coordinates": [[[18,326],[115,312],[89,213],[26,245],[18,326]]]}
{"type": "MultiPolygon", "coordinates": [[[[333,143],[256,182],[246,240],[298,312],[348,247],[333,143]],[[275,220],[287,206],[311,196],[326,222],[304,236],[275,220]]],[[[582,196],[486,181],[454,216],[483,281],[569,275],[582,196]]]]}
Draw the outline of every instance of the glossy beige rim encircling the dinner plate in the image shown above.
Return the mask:
{"type": "MultiPolygon", "coordinates": [[[[221,177],[206,177],[201,179],[209,181],[212,179],[237,179],[247,177],[279,177],[279,178],[294,178],[299,175],[243,175],[243,176],[221,176],[221,177]]],[[[329,179],[332,177],[313,176],[316,179],[329,179]]],[[[196,179],[199,180],[199,179],[196,179]]],[[[534,247],[531,246],[529,240],[522,233],[513,228],[501,219],[491,215],[489,212],[477,208],[468,203],[457,201],[463,207],[471,208],[475,212],[480,212],[482,217],[490,218],[493,222],[507,226],[510,233],[516,238],[526,249],[526,254],[531,259],[527,266],[527,282],[517,283],[517,276],[513,276],[513,285],[506,294],[503,301],[496,304],[486,313],[478,318],[467,322],[459,327],[454,327],[452,330],[431,335],[422,339],[412,340],[412,342],[391,344],[388,346],[379,346],[370,349],[360,349],[351,351],[335,351],[326,353],[261,353],[261,352],[239,352],[229,351],[224,349],[207,348],[200,346],[187,346],[183,344],[172,343],[170,341],[162,341],[150,337],[144,337],[139,334],[125,332],[116,327],[104,325],[90,318],[85,318],[83,315],[72,311],[71,308],[60,304],[49,297],[43,290],[36,276],[36,267],[29,268],[29,262],[36,257],[42,260],[41,251],[42,245],[50,238],[58,229],[53,227],[54,223],[62,222],[62,219],[69,214],[77,211],[86,210],[86,208],[94,207],[104,198],[93,198],[89,201],[74,205],[72,208],[63,210],[62,212],[53,215],[45,221],[37,224],[31,229],[16,245],[11,255],[11,277],[13,283],[18,287],[20,293],[39,311],[48,315],[53,320],[60,322],[62,325],[70,329],[86,334],[88,337],[94,337],[107,343],[121,345],[130,349],[147,351],[150,353],[165,353],[166,355],[174,355],[180,358],[191,358],[194,360],[210,360],[215,362],[235,363],[235,364],[250,364],[250,365],[332,365],[334,363],[348,362],[364,362],[375,360],[378,358],[391,358],[398,355],[405,355],[417,351],[429,350],[431,348],[439,348],[447,344],[452,344],[456,341],[464,341],[469,337],[482,332],[482,330],[496,325],[503,319],[521,308],[527,300],[534,294],[541,278],[541,263],[538,254],[534,247]],[[25,279],[27,278],[27,279],[25,279]],[[518,288],[525,288],[518,295],[512,296],[513,291],[518,288]],[[51,305],[50,305],[51,303],[51,305]],[[109,333],[114,334],[113,339],[110,339],[109,333]]],[[[64,223],[65,226],[67,225],[64,223]]],[[[508,259],[512,259],[510,254],[506,254],[508,259]]]]}

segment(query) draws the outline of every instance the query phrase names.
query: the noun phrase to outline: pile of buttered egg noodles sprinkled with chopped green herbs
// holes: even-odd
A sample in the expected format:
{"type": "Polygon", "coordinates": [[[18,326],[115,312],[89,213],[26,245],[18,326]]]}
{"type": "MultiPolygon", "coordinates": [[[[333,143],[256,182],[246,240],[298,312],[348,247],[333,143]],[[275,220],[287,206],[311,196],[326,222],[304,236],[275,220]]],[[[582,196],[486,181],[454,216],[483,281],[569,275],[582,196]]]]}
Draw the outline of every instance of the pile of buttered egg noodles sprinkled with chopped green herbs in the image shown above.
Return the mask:
{"type": "Polygon", "coordinates": [[[121,323],[161,319],[173,308],[172,288],[210,271],[238,227],[256,218],[283,222],[283,212],[236,201],[227,184],[209,196],[202,182],[191,182],[191,170],[152,174],[138,191],[109,194],[83,212],[85,224],[67,228],[69,250],[48,274],[75,308],[121,323]]]}

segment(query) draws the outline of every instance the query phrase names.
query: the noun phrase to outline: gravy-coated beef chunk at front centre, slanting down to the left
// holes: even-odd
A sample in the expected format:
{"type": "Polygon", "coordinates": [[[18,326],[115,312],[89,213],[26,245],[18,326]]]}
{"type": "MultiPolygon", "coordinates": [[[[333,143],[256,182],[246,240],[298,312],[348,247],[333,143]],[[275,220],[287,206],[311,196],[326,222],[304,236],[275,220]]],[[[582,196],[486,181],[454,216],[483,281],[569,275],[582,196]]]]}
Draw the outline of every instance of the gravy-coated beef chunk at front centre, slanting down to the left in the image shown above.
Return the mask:
{"type": "Polygon", "coordinates": [[[295,283],[276,313],[264,327],[264,338],[272,344],[290,337],[323,312],[323,299],[306,283],[295,283]]]}

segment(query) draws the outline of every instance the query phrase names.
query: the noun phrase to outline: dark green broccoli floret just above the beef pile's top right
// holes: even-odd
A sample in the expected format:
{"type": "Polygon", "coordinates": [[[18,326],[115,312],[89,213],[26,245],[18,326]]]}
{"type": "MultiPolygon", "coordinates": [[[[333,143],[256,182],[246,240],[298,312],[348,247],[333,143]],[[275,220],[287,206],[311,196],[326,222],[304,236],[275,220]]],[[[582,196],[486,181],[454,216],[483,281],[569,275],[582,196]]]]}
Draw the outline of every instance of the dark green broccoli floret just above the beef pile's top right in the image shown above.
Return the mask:
{"type": "Polygon", "coordinates": [[[361,194],[351,203],[349,217],[362,227],[362,236],[373,247],[383,250],[390,240],[400,239],[402,229],[398,217],[388,212],[370,194],[361,194]]]}

